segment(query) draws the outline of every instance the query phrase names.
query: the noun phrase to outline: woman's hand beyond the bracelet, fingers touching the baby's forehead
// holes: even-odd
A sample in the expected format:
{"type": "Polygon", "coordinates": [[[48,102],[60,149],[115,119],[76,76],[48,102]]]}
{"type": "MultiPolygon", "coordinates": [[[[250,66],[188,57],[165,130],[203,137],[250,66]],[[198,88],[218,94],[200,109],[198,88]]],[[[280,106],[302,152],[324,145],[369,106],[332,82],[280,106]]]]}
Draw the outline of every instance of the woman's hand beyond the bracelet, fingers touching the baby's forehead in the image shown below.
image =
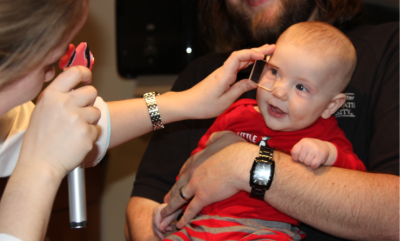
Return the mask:
{"type": "Polygon", "coordinates": [[[188,118],[212,118],[225,111],[240,95],[255,89],[257,85],[249,80],[234,84],[237,73],[273,53],[275,45],[264,45],[259,48],[233,52],[224,65],[211,73],[193,88],[182,92],[185,100],[185,113],[188,118]]]}

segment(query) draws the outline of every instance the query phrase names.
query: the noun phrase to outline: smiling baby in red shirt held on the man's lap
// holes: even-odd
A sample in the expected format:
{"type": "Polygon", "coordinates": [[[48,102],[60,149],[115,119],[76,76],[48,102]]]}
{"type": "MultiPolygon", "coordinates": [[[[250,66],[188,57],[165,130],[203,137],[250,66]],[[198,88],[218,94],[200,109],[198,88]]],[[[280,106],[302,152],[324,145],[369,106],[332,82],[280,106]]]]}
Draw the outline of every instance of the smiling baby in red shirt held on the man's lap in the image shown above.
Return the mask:
{"type": "MultiPolygon", "coordinates": [[[[323,22],[291,26],[265,62],[257,101],[235,102],[216,119],[192,155],[205,148],[212,133],[230,130],[248,142],[290,152],[294,161],[314,169],[326,165],[365,171],[332,116],[346,101],[342,91],[355,65],[352,43],[335,27],[323,22]]],[[[165,205],[154,213],[153,228],[160,238],[181,212],[162,219],[165,205]]],[[[298,225],[264,200],[239,192],[205,207],[167,240],[300,240],[305,234],[298,225]]]]}

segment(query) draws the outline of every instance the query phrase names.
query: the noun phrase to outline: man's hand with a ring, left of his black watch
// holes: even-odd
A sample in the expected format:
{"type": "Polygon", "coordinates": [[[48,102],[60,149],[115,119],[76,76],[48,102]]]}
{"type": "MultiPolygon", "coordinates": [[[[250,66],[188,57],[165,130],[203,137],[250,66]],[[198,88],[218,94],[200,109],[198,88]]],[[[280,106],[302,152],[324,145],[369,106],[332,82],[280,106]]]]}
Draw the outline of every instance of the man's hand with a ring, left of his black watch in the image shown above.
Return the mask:
{"type": "Polygon", "coordinates": [[[190,157],[179,175],[179,180],[166,195],[168,203],[161,211],[167,217],[193,197],[178,228],[185,226],[203,207],[225,200],[241,190],[250,192],[250,168],[258,155],[258,147],[249,144],[233,132],[214,133],[207,142],[207,148],[190,157]]]}

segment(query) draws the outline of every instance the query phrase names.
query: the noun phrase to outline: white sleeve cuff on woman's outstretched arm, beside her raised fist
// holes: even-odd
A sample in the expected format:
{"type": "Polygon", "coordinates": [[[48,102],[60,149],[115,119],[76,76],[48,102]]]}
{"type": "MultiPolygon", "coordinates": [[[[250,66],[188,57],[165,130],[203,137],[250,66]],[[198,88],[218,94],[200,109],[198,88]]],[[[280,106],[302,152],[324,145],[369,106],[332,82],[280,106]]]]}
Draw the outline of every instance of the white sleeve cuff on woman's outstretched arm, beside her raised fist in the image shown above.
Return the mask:
{"type": "Polygon", "coordinates": [[[100,120],[97,123],[99,137],[92,151],[85,157],[85,167],[96,166],[103,159],[110,144],[111,124],[107,103],[101,97],[97,97],[94,107],[98,108],[101,112],[100,120]]]}

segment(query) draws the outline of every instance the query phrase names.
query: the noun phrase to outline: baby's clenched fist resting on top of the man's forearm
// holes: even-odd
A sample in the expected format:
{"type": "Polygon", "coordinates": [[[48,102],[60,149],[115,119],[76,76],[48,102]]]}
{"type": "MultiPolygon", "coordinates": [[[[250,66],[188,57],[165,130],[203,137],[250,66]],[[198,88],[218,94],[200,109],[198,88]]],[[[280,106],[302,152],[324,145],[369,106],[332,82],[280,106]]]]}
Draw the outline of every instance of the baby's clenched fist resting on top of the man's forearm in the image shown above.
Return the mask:
{"type": "Polygon", "coordinates": [[[290,151],[293,161],[299,161],[312,169],[321,165],[331,166],[336,161],[336,146],[327,141],[303,138],[290,151]]]}

